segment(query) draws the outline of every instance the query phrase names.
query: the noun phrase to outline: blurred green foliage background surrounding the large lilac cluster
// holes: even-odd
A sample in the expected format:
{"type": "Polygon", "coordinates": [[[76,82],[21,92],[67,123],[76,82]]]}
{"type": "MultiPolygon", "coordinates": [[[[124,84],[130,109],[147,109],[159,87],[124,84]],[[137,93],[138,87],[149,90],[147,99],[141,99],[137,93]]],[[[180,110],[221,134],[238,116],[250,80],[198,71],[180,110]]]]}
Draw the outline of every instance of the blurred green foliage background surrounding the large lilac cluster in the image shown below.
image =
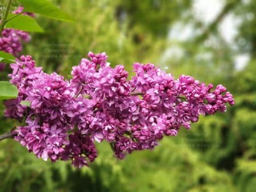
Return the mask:
{"type": "MultiPolygon", "coordinates": [[[[108,144],[98,144],[99,156],[89,168],[44,162],[18,142],[3,140],[0,191],[256,191],[256,1],[205,0],[221,5],[208,22],[202,19],[207,13],[195,12],[198,0],[52,2],[76,22],[36,17],[46,32],[31,34],[23,54],[46,72],[69,78],[89,51],[105,51],[112,66],[123,64],[129,72],[133,62],[151,62],[175,77],[223,84],[236,105],[225,114],[202,116],[154,151],[122,161],[108,144]],[[236,23],[233,36],[230,23],[236,23]]],[[[1,80],[8,72],[0,73],[1,80]]],[[[0,118],[1,133],[15,124],[3,116],[2,104],[0,118]]]]}

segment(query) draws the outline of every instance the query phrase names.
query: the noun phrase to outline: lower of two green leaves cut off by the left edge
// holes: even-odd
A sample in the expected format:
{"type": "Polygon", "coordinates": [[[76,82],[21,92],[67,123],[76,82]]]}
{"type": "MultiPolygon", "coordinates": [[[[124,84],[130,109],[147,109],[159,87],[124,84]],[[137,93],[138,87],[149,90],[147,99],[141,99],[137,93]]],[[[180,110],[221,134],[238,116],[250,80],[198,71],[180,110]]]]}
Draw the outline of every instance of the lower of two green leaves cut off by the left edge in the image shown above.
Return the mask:
{"type": "Polygon", "coordinates": [[[12,99],[18,96],[18,89],[8,81],[0,81],[0,100],[12,99]]]}

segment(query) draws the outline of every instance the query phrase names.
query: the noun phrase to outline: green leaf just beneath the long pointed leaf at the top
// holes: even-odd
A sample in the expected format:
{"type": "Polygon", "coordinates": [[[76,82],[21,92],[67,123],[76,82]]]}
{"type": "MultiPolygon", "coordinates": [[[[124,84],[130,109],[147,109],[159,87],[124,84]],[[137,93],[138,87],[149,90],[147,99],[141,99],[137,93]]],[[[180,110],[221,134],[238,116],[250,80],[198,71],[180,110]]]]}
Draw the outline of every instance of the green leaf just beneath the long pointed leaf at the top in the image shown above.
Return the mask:
{"type": "MultiPolygon", "coordinates": [[[[15,14],[8,14],[8,18],[12,18],[15,14]]],[[[5,28],[15,28],[16,30],[30,32],[44,32],[43,29],[36,23],[36,20],[27,15],[19,15],[9,20],[5,24],[5,28]]]]}

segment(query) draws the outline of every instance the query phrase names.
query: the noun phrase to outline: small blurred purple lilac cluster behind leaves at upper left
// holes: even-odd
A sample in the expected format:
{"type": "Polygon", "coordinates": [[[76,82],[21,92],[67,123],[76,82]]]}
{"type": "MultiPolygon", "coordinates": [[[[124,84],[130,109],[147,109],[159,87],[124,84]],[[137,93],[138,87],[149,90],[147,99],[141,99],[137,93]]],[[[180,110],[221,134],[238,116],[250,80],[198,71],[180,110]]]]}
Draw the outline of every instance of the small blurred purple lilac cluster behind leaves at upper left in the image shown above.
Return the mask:
{"type": "MultiPolygon", "coordinates": [[[[18,7],[14,14],[19,14],[23,11],[23,7],[18,7]]],[[[28,15],[34,17],[33,13],[24,12],[23,15],[28,15]]],[[[22,41],[30,41],[30,35],[28,32],[14,30],[11,28],[6,28],[2,31],[0,37],[0,51],[10,53],[11,55],[17,57],[22,51],[22,41]]],[[[5,69],[5,64],[0,63],[0,71],[5,69]]]]}

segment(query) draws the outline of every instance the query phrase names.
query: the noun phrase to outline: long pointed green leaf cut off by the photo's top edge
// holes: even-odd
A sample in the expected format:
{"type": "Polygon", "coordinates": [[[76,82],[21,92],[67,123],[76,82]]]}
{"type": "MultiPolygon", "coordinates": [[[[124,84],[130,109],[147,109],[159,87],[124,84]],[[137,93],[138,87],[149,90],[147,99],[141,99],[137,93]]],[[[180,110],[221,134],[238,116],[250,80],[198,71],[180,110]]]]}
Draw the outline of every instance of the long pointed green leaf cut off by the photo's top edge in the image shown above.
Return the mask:
{"type": "Polygon", "coordinates": [[[71,16],[60,10],[48,0],[19,0],[26,12],[35,12],[37,14],[47,16],[48,18],[63,20],[65,22],[73,22],[71,16]]]}

